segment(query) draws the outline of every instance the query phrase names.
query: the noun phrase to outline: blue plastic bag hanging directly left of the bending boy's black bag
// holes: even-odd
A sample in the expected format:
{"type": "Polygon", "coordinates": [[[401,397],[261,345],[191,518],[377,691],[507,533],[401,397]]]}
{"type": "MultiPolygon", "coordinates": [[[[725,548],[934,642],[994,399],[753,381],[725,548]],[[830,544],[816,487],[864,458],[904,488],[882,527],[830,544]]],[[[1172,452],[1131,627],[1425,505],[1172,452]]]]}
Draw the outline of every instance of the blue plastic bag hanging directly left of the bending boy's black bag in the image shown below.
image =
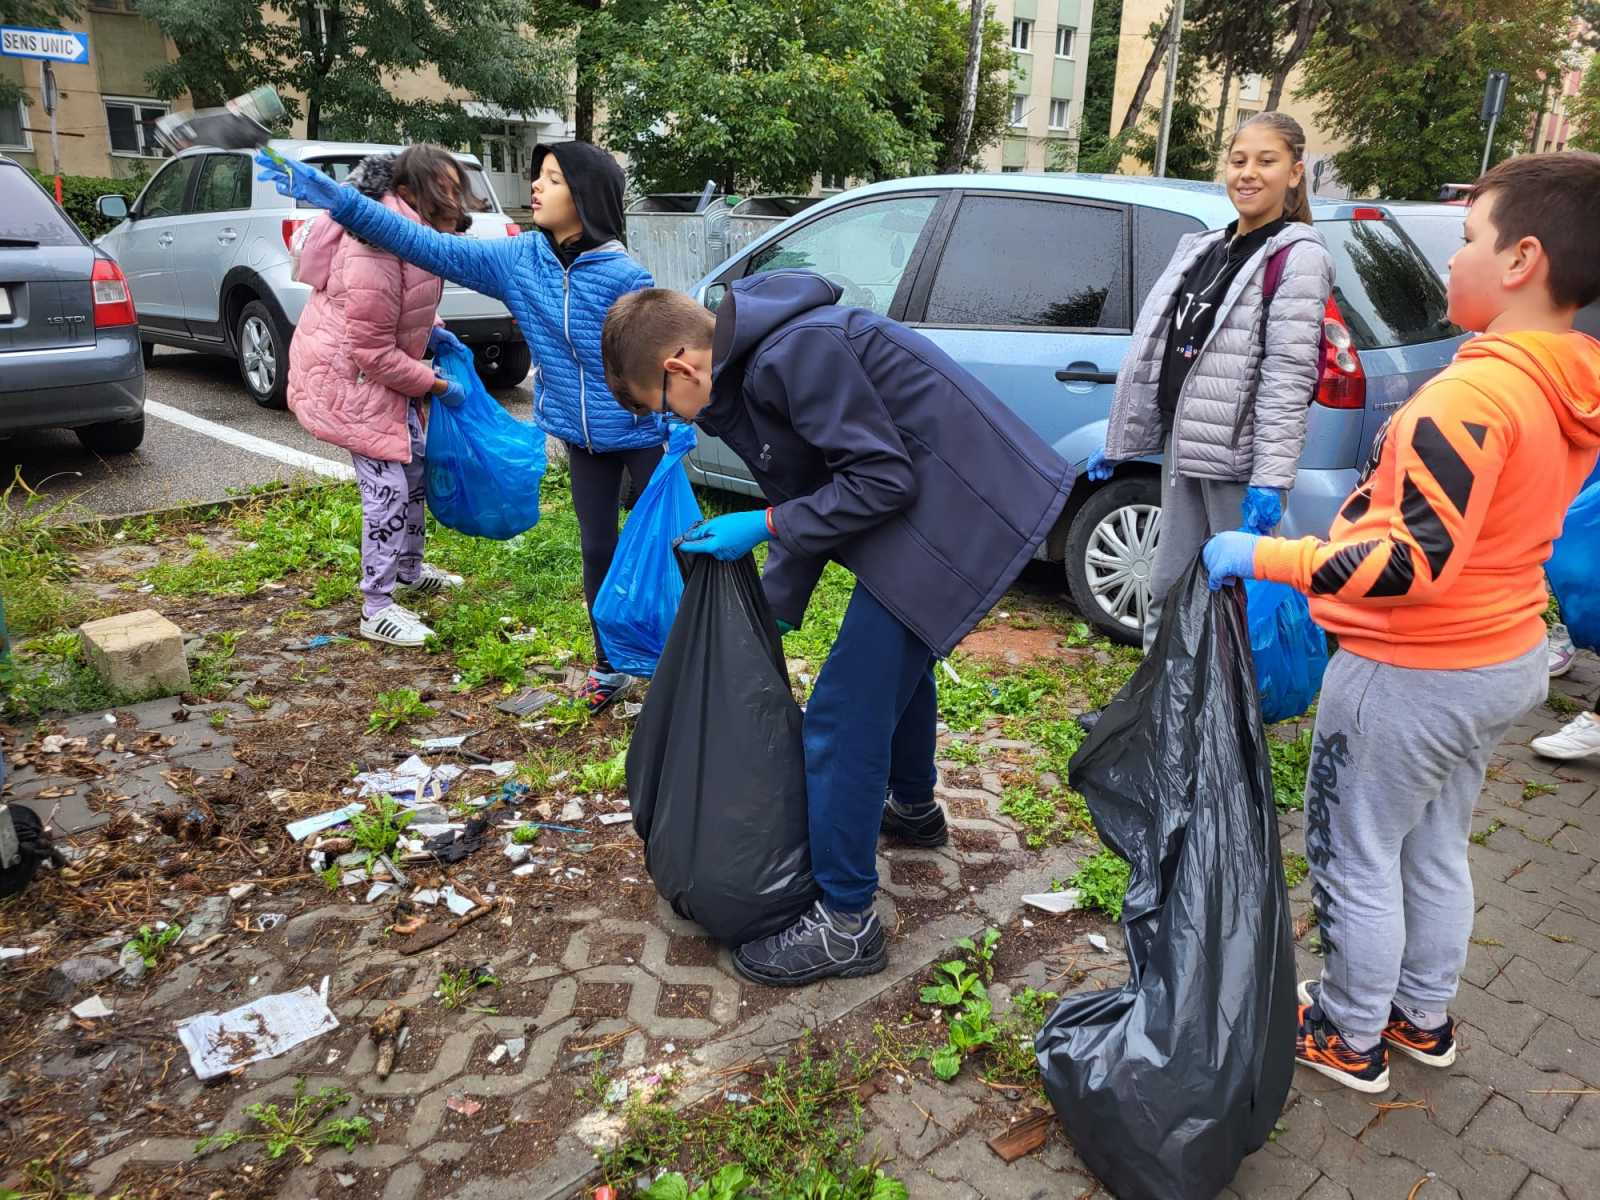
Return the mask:
{"type": "Polygon", "coordinates": [[[634,504],[616,544],[611,570],[595,597],[600,645],[618,670],[650,678],[683,598],[683,573],[672,541],[701,518],[683,456],[694,450],[694,427],[672,424],[667,453],[645,494],[634,504]]]}

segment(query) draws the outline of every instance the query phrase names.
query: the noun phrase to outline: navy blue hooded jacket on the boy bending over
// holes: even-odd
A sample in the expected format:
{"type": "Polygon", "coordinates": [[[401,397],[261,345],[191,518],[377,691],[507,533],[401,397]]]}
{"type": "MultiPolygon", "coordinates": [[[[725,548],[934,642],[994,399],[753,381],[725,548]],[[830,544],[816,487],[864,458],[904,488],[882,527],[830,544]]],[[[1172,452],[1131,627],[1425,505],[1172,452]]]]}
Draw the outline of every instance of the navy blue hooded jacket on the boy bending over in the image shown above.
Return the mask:
{"type": "Polygon", "coordinates": [[[701,416],[773,506],[763,582],[798,626],[829,558],[944,656],[1048,536],[1072,467],[926,338],[806,270],[717,309],[701,416]]]}

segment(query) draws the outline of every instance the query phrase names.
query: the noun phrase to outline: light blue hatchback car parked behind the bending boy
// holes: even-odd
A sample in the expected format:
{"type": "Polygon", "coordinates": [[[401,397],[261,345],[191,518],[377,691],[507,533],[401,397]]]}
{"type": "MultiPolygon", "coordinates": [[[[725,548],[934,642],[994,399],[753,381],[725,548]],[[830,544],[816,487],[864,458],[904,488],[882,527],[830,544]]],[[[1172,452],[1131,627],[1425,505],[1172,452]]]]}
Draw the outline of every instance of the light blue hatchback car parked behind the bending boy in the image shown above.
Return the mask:
{"type": "MultiPolygon", "coordinates": [[[[1462,334],[1427,259],[1381,205],[1314,200],[1338,270],[1326,320],[1349,330],[1354,370],[1323,365],[1282,531],[1325,534],[1373,435],[1443,368],[1462,334]]],[[[1117,368],[1157,275],[1189,232],[1234,219],[1218,184],[1131,176],[960,174],[872,184],[832,197],[750,243],[696,288],[715,309],[733,280],[810,269],[843,302],[938,342],[1080,467],[1102,443],[1117,368]]],[[[758,494],[714,438],[690,459],[698,483],[758,494]]],[[[1061,563],[1077,608],[1139,640],[1160,536],[1160,464],[1077,480],[1042,557],[1061,563]]]]}

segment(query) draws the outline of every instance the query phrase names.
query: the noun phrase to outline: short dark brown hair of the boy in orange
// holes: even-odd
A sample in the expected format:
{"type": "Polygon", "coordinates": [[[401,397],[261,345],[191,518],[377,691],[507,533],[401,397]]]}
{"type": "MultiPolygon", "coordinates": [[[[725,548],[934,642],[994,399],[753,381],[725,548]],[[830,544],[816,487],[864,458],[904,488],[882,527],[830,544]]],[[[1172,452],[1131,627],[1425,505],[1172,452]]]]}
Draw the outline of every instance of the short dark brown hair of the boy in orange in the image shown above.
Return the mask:
{"type": "Polygon", "coordinates": [[[1584,307],[1600,299],[1600,154],[1520,154],[1493,166],[1472,198],[1494,195],[1494,250],[1534,237],[1550,262],[1550,299],[1584,307]]]}

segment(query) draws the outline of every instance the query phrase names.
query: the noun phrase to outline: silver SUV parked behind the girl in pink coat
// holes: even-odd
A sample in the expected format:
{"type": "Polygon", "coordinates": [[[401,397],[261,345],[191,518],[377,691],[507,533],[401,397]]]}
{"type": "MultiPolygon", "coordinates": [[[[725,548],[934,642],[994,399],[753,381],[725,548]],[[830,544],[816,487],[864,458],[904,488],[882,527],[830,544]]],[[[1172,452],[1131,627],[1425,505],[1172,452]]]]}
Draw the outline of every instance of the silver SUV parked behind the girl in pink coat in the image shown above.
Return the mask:
{"type": "MultiPolygon", "coordinates": [[[[342,181],[366,155],[403,147],[277,139],[272,149],[342,181]]],[[[483,203],[467,237],[520,234],[478,160],[456,160],[483,203]]],[[[120,222],[94,245],[117,259],[133,288],[146,365],[155,346],[227,355],[238,360],[258,405],[283,408],[290,338],[310,296],[291,278],[290,245],[317,213],[256,179],[251,152],[213,147],[184,150],[162,166],[133,208],[104,195],[99,211],[120,222]]],[[[472,347],[488,386],[514,387],[526,378],[528,344],[504,304],[446,283],[438,315],[472,347]]]]}

